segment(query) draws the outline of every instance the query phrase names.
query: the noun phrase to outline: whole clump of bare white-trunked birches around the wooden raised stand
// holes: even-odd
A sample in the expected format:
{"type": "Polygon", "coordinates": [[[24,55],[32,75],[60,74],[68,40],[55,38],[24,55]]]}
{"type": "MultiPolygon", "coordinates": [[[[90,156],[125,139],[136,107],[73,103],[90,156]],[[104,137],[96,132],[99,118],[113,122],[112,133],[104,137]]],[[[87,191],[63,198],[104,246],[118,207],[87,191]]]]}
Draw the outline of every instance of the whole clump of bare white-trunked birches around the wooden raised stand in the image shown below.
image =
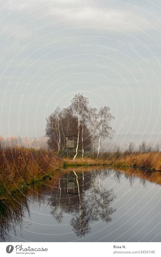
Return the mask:
{"type": "Polygon", "coordinates": [[[97,157],[100,152],[101,138],[111,138],[113,133],[110,127],[114,117],[110,113],[110,107],[89,107],[89,99],[83,94],[76,94],[69,107],[56,109],[47,118],[46,136],[50,150],[59,155],[64,155],[67,147],[66,136],[77,135],[76,151],[73,160],[82,149],[82,157],[85,150],[89,150],[92,144],[92,157],[94,158],[95,143],[98,143],[97,157]],[[91,142],[92,141],[92,142],[91,142]]]}

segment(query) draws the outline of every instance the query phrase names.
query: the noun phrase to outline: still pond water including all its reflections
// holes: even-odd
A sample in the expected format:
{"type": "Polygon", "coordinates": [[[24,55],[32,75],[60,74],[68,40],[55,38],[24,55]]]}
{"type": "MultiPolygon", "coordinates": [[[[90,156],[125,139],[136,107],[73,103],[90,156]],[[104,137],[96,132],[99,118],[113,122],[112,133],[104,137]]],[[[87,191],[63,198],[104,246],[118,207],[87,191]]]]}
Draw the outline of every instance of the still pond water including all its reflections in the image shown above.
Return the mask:
{"type": "Polygon", "coordinates": [[[0,202],[2,242],[160,242],[161,173],[58,170],[0,202]]]}

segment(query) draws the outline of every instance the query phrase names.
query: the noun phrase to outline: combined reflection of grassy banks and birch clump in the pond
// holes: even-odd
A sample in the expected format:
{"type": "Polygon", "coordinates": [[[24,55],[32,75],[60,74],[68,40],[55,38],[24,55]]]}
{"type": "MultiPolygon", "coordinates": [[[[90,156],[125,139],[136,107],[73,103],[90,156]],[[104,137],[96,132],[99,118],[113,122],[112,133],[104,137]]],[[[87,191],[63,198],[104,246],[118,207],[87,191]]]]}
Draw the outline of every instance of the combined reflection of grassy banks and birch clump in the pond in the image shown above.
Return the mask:
{"type": "MultiPolygon", "coordinates": [[[[118,170],[93,170],[92,167],[76,170],[58,170],[53,178],[46,178],[44,183],[28,186],[21,192],[14,193],[9,199],[0,199],[0,241],[10,242],[11,236],[28,226],[30,208],[48,205],[51,215],[58,223],[63,221],[63,214],[72,216],[70,224],[77,236],[90,232],[91,223],[99,219],[110,222],[115,209],[111,208],[114,199],[112,190],[103,187],[108,179],[120,183],[121,177],[131,186],[137,181],[146,187],[148,183],[161,185],[160,172],[150,172],[126,168],[118,170]],[[26,213],[28,220],[25,219],[26,213]]],[[[21,235],[23,238],[23,236],[21,235]]]]}

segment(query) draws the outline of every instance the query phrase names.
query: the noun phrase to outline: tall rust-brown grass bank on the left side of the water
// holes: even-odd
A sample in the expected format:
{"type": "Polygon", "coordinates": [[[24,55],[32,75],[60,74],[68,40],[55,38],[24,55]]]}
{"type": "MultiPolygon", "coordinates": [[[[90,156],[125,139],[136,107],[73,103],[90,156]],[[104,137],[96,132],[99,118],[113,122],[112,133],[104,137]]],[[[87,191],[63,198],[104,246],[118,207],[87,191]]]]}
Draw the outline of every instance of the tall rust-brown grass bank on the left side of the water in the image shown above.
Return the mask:
{"type": "Polygon", "coordinates": [[[0,196],[8,197],[50,174],[60,165],[57,157],[46,150],[20,147],[0,149],[0,196]]]}

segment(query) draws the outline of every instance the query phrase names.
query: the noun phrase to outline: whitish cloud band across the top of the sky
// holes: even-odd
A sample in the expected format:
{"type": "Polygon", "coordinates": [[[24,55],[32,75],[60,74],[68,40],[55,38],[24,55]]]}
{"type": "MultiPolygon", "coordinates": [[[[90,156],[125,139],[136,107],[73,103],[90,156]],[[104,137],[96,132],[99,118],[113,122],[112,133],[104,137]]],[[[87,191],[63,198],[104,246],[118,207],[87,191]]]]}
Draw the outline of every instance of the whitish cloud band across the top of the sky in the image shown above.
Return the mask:
{"type": "MultiPolygon", "coordinates": [[[[102,2],[105,4],[105,2],[102,2]]],[[[148,12],[142,11],[134,6],[125,5],[121,8],[118,5],[111,8],[91,2],[91,1],[58,1],[55,0],[28,0],[16,1],[9,5],[11,10],[15,10],[14,15],[17,14],[18,21],[15,23],[27,23],[33,21],[44,22],[51,20],[66,20],[73,21],[70,24],[75,25],[75,20],[79,20],[77,24],[80,25],[97,25],[109,27],[113,29],[121,29],[123,31],[147,31],[150,28],[159,29],[159,20],[155,15],[149,15],[148,12]],[[37,20],[38,19],[38,20],[37,20]],[[34,21],[35,20],[35,21],[34,21]]],[[[16,19],[15,19],[16,20],[16,19]]]]}

